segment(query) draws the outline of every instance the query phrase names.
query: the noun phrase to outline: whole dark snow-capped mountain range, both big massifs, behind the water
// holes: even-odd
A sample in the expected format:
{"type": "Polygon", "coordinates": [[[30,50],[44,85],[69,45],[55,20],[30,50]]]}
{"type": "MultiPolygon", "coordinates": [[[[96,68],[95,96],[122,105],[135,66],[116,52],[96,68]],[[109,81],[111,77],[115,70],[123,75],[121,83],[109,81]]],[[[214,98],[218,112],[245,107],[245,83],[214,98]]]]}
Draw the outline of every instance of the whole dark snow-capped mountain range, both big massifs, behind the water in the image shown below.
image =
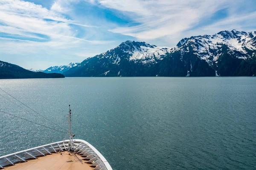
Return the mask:
{"type": "Polygon", "coordinates": [[[64,72],[95,76],[252,76],[256,74],[256,31],[221,31],[184,38],[174,48],[125,41],[64,72]]]}

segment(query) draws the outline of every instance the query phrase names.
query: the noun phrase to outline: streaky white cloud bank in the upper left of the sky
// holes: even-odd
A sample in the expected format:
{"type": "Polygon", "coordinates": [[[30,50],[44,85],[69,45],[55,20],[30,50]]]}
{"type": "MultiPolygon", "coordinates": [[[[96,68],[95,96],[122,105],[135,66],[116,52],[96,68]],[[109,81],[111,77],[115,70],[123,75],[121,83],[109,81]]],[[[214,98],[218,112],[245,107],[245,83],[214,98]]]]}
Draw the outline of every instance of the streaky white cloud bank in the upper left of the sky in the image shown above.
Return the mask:
{"type": "Polygon", "coordinates": [[[41,45],[41,47],[73,48],[82,42],[105,44],[107,41],[85,40],[76,37],[76,30],[70,24],[93,27],[76,23],[55,11],[41,5],[21,0],[0,1],[0,32],[15,36],[47,39],[47,42],[25,43],[25,45],[41,45]],[[47,38],[42,38],[47,37],[47,38]]]}

